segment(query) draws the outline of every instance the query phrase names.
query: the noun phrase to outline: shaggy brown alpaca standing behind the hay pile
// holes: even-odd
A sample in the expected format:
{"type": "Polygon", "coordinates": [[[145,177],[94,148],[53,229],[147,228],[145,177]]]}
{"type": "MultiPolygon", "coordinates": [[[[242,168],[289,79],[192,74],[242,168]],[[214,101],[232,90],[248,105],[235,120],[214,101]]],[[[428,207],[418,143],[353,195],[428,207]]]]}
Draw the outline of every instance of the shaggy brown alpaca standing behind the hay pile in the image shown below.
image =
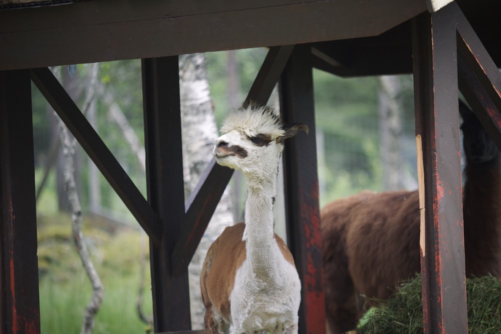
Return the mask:
{"type": "MultiPolygon", "coordinates": [[[[466,276],[501,278],[500,154],[471,110],[459,110],[466,276]]],[[[420,271],[418,192],[363,192],[327,204],[321,219],[327,327],[337,334],[355,328],[363,296],[387,299],[420,271]]]]}

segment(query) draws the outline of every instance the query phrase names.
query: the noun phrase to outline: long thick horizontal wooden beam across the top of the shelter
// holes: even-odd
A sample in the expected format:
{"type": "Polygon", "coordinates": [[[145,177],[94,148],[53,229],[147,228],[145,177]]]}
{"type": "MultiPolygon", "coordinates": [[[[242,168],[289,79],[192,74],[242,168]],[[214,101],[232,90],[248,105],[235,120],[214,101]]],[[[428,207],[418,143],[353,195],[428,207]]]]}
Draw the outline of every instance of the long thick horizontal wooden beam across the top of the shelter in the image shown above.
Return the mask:
{"type": "Polygon", "coordinates": [[[425,10],[422,0],[105,0],[4,10],[0,70],[375,36],[425,10]]]}

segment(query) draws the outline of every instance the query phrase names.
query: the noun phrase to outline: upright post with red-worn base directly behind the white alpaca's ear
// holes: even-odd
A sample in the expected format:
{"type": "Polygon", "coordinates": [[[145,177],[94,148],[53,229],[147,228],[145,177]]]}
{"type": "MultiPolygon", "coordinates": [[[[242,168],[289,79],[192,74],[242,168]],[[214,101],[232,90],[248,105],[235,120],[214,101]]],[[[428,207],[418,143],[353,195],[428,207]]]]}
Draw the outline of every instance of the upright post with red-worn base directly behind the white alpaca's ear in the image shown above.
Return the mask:
{"type": "Polygon", "coordinates": [[[280,94],[284,121],[310,127],[308,135],[301,133],[285,143],[285,197],[289,247],[302,283],[299,332],[322,334],[324,280],[310,47],[294,48],[282,74],[280,94]]]}

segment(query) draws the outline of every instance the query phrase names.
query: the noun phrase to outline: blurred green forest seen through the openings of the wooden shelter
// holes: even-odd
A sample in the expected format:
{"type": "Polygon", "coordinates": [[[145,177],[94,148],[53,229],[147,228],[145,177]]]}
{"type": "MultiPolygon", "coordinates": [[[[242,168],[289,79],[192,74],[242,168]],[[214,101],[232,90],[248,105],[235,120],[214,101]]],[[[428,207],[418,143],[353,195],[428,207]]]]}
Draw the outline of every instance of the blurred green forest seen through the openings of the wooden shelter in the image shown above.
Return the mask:
{"type": "MultiPolygon", "coordinates": [[[[218,126],[244,100],[266,54],[266,49],[205,54],[218,126]]],[[[62,67],[60,74],[66,90],[145,195],[140,60],[62,67]],[[96,92],[92,103],[86,100],[91,88],[96,92]]],[[[412,76],[344,79],[314,70],[313,77],[321,206],[366,189],[416,189],[412,76]]],[[[42,332],[79,332],[92,287],[72,240],[57,121],[35,86],[33,99],[42,332]]],[[[278,106],[276,94],[270,104],[278,106]]],[[[74,158],[84,241],[104,286],[94,332],[147,332],[151,327],[138,316],[139,307],[143,320],[151,321],[146,236],[78,145],[74,158]]],[[[245,199],[241,182],[235,173],[230,183],[238,220],[245,199]]],[[[194,320],[193,328],[202,324],[194,320]]]]}

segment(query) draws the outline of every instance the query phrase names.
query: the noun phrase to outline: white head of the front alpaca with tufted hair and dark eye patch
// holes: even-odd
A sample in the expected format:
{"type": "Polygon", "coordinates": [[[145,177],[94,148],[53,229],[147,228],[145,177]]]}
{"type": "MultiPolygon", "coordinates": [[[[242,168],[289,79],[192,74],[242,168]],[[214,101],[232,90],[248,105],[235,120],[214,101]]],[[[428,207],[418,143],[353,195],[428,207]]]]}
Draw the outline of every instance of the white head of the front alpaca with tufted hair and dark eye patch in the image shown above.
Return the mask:
{"type": "Polygon", "coordinates": [[[276,177],[284,140],[300,130],[309,131],[305,124],[284,125],[271,107],[250,105],[224,120],[212,154],[219,165],[238,169],[247,177],[276,177]]]}

